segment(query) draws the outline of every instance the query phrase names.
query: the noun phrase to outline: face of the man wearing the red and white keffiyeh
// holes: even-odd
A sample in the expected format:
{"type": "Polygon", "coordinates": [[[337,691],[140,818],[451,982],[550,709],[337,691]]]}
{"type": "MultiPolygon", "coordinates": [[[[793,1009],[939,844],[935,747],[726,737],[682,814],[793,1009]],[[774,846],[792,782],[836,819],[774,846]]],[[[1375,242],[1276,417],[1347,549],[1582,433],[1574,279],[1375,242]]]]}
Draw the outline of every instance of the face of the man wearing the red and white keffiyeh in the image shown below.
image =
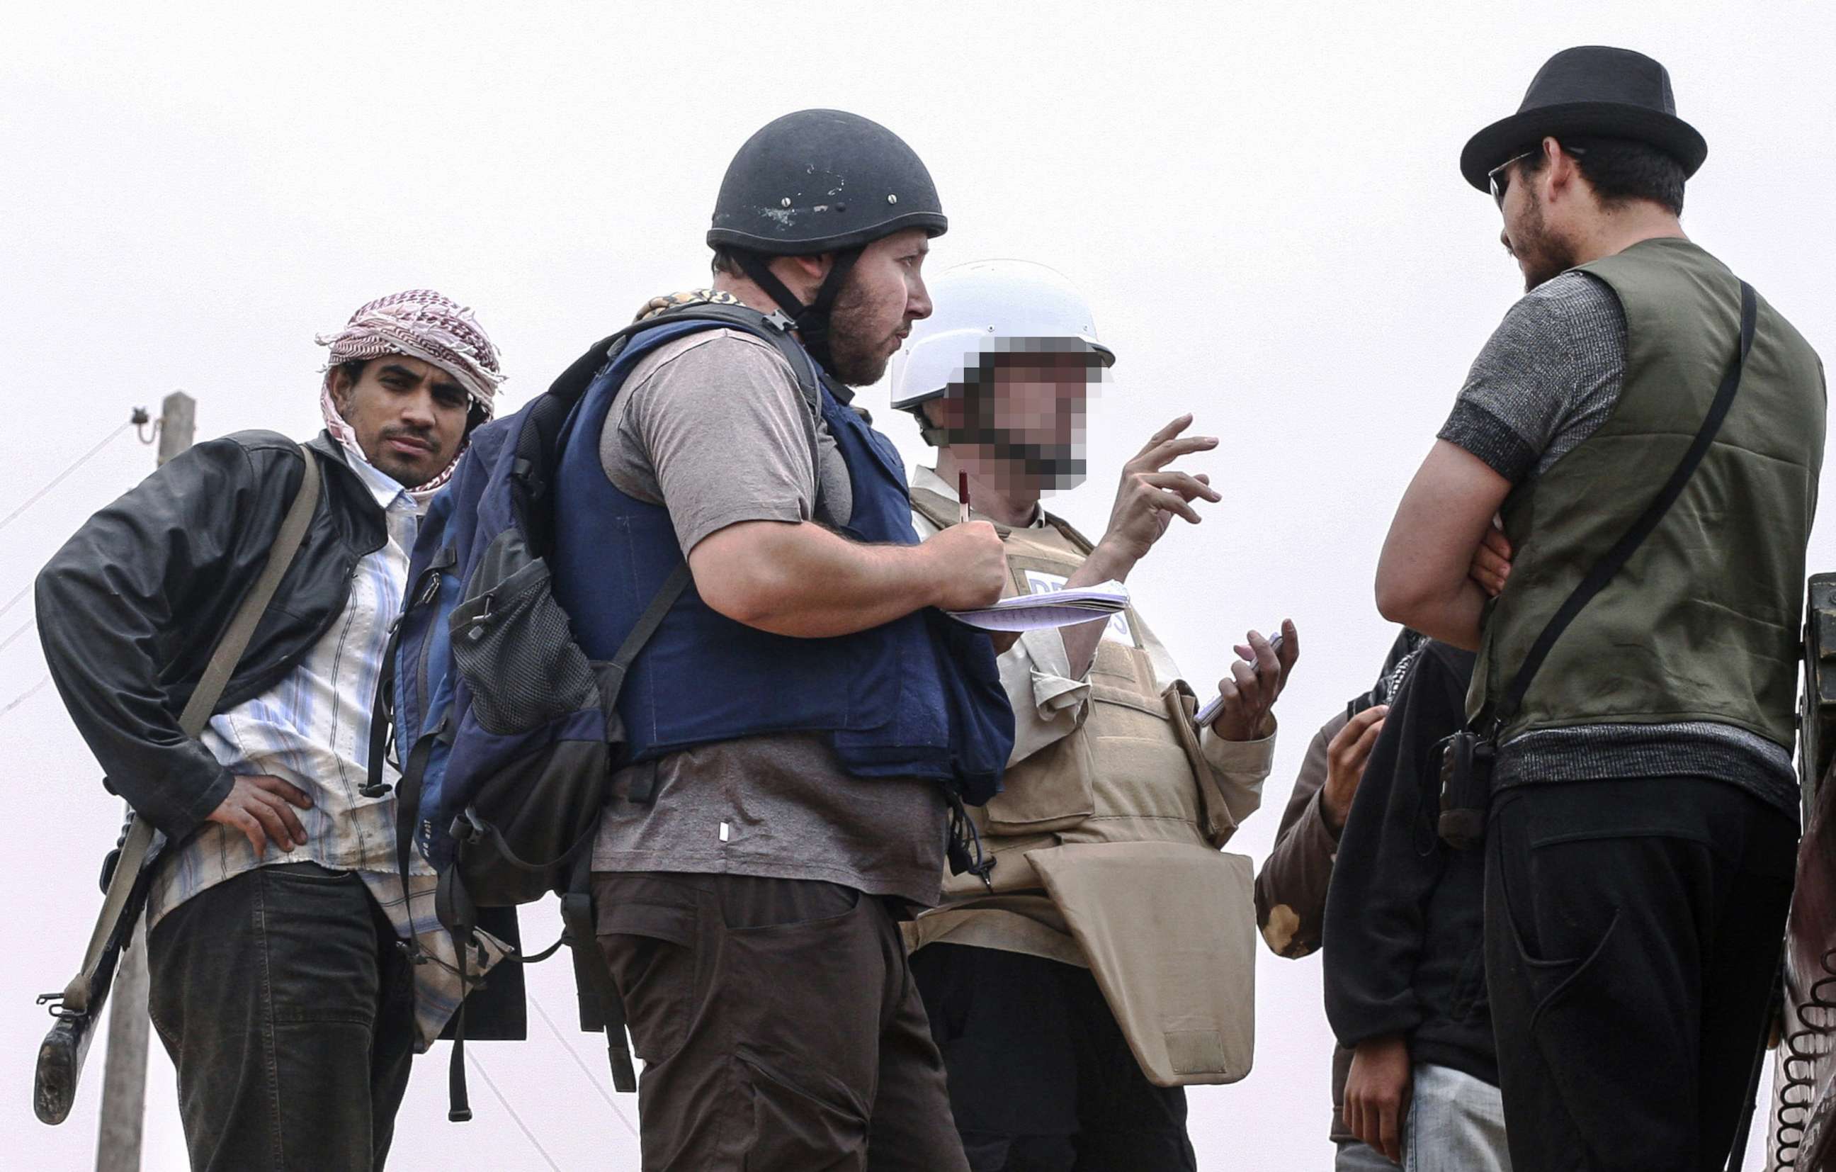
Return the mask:
{"type": "Polygon", "coordinates": [[[472,406],[452,375],[408,355],[371,358],[354,382],[349,369],[336,367],[332,402],[356,432],[364,457],[404,489],[446,470],[472,406]]]}

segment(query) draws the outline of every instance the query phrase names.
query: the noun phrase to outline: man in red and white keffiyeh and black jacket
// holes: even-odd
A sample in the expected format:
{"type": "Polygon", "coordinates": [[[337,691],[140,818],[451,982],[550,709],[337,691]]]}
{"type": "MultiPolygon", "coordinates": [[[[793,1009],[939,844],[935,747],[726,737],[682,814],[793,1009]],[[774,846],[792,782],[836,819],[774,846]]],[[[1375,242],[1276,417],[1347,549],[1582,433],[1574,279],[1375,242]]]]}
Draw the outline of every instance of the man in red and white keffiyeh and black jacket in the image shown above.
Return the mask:
{"type": "MultiPolygon", "coordinates": [[[[433,871],[397,873],[395,795],[364,786],[420,509],[503,373],[472,310],[424,288],[318,342],[318,509],[198,740],[178,711],[299,489],[299,445],[239,432],[189,448],[92,516],[37,584],[72,720],[163,836],[147,865],[149,1009],[200,1170],[380,1168],[409,1060],[465,992],[433,871]]],[[[470,1036],[494,1036],[488,1012],[470,1016],[470,1036]]]]}

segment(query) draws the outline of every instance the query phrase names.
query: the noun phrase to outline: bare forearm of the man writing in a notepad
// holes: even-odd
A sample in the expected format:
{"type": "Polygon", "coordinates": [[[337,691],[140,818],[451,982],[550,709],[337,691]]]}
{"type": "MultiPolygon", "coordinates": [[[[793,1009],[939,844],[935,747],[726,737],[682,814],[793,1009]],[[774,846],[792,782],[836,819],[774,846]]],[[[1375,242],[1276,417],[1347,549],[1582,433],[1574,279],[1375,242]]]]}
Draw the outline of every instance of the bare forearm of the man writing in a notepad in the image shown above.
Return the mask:
{"type": "Polygon", "coordinates": [[[931,562],[924,546],[863,546],[812,522],[729,525],[688,555],[709,606],[799,639],[850,636],[935,604],[931,562]]]}

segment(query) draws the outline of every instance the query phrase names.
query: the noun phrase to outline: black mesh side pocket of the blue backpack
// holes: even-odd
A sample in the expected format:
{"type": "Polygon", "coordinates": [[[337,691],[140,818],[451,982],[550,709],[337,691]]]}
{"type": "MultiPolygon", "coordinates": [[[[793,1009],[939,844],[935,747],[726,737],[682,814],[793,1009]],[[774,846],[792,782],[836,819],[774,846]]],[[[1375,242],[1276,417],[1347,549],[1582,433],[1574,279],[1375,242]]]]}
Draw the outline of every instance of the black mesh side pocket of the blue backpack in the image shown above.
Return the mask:
{"type": "Polygon", "coordinates": [[[549,566],[531,558],[514,531],[479,560],[448,630],[472,715],[487,733],[520,733],[599,707],[593,667],[554,601],[549,566]]]}

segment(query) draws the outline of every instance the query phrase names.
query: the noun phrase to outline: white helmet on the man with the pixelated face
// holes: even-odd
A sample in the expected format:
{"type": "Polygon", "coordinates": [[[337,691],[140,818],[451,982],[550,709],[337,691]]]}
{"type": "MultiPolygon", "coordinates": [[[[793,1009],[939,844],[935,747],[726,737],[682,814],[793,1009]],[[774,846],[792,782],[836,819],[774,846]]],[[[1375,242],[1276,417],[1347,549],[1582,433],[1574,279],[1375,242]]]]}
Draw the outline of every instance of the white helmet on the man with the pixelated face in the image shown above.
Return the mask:
{"type": "Polygon", "coordinates": [[[916,411],[962,384],[984,353],[1004,353],[1013,340],[1074,340],[1113,366],[1116,356],[1096,340],[1091,307],[1065,274],[1032,261],[969,261],[931,281],[936,310],[912,323],[892,358],[892,406],[916,411]]]}

